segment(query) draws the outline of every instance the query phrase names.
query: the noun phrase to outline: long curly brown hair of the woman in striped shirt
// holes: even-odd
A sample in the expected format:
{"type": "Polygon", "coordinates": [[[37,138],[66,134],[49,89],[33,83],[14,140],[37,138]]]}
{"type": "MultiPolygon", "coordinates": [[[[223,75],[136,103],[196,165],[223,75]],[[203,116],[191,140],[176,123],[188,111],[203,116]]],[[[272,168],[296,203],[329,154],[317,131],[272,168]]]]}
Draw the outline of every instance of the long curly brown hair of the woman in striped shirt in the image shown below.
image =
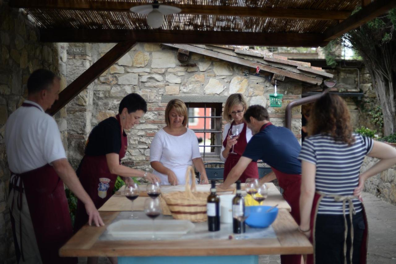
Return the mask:
{"type": "Polygon", "coordinates": [[[308,122],[308,136],[329,134],[336,142],[352,145],[350,115],[345,101],[336,94],[326,94],[312,106],[308,122]]]}

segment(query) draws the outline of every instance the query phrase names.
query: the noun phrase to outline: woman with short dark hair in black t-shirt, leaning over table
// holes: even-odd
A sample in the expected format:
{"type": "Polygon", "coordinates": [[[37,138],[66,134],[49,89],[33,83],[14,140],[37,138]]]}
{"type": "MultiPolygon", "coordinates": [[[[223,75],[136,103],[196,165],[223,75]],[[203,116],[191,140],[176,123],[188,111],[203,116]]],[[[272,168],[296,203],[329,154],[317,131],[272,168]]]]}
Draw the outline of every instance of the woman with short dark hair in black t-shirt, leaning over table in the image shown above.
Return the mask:
{"type": "MultiPolygon", "coordinates": [[[[150,182],[159,181],[154,174],[121,165],[128,147],[124,130],[139,124],[146,112],[146,101],[139,94],[128,94],[120,102],[118,115],[101,121],[89,134],[77,175],[96,208],[112,196],[118,175],[143,177],[150,182]]],[[[78,231],[87,221],[84,204],[78,200],[74,231],[78,231]]]]}

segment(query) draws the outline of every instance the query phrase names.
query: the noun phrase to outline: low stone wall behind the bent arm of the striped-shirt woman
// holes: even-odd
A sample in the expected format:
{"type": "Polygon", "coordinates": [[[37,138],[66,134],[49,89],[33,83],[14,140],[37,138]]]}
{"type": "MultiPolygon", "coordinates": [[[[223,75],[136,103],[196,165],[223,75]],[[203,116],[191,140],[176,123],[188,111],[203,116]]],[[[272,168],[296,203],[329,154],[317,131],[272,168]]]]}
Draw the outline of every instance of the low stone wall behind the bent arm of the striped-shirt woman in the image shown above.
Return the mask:
{"type": "MultiPolygon", "coordinates": [[[[371,168],[378,161],[378,159],[366,157],[360,172],[371,168]]],[[[396,165],[369,178],[364,185],[364,191],[396,205],[396,165]]]]}

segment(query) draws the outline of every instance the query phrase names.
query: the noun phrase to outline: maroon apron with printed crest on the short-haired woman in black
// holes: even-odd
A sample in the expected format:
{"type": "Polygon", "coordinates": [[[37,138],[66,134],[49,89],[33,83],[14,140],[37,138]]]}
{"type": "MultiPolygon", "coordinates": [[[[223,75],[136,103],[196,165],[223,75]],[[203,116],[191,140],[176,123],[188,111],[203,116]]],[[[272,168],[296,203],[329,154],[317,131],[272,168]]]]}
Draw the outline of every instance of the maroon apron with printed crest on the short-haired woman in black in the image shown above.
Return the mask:
{"type": "MultiPolygon", "coordinates": [[[[120,116],[116,116],[120,123],[120,116]]],[[[121,124],[120,124],[121,127],[121,124]]],[[[125,156],[128,147],[128,138],[124,130],[121,131],[121,148],[118,153],[121,159],[125,156]]],[[[110,173],[109,166],[107,166],[106,155],[88,156],[85,155],[81,161],[78,170],[78,177],[80,182],[89,197],[91,197],[95,207],[99,209],[112,196],[114,184],[116,183],[117,175],[110,173]]],[[[76,220],[74,222],[74,232],[77,232],[88,222],[88,214],[86,213],[84,203],[78,199],[76,220]]]]}

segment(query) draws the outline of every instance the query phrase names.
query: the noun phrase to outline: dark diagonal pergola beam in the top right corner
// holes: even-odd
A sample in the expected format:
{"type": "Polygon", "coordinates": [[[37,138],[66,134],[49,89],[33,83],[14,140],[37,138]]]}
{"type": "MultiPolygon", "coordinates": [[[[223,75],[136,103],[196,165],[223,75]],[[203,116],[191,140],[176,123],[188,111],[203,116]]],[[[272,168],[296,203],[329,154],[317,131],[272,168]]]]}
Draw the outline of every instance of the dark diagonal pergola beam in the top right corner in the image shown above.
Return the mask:
{"type": "Polygon", "coordinates": [[[376,0],[367,6],[364,6],[360,11],[351,15],[335,27],[328,29],[324,35],[324,41],[333,40],[343,34],[356,29],[360,25],[382,15],[391,8],[396,7],[396,0],[376,0]]]}

